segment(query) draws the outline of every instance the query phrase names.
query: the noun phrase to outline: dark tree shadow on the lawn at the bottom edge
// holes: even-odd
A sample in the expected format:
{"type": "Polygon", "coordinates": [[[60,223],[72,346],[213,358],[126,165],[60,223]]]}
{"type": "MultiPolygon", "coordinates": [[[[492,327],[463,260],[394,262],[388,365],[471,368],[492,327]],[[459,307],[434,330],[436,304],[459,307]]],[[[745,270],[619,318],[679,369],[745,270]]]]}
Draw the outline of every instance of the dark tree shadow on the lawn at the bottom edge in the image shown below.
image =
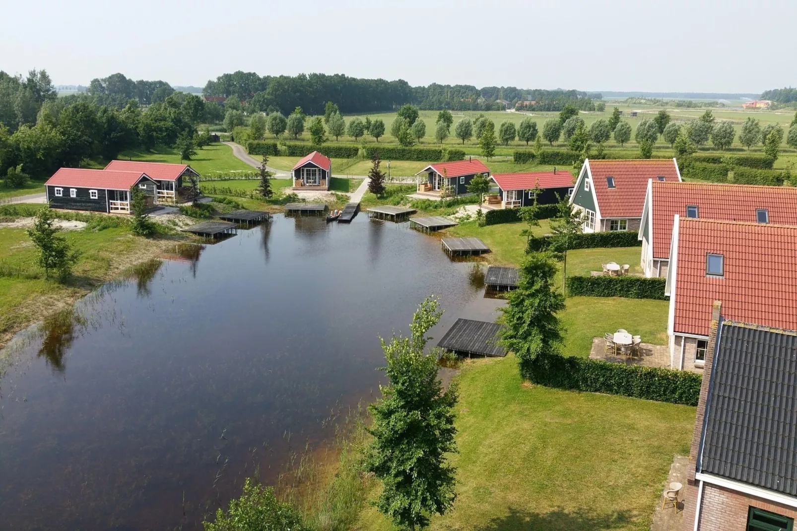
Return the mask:
{"type": "Polygon", "coordinates": [[[611,513],[595,513],[587,509],[566,511],[555,509],[548,513],[531,513],[509,508],[503,517],[491,518],[478,531],[607,531],[620,529],[634,521],[634,513],[628,510],[611,513]]]}

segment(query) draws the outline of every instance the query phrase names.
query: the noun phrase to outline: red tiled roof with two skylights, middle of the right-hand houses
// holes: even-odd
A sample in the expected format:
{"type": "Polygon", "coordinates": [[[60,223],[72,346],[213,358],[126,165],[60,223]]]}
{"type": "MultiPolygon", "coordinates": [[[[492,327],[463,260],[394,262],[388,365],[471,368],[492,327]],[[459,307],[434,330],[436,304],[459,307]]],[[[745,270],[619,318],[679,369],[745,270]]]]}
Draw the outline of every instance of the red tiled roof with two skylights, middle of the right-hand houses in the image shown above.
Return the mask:
{"type": "Polygon", "coordinates": [[[769,222],[797,225],[797,188],[748,184],[669,183],[653,181],[653,255],[669,258],[673,216],[686,217],[686,206],[697,217],[720,221],[756,222],[756,210],[769,210],[769,222]]]}

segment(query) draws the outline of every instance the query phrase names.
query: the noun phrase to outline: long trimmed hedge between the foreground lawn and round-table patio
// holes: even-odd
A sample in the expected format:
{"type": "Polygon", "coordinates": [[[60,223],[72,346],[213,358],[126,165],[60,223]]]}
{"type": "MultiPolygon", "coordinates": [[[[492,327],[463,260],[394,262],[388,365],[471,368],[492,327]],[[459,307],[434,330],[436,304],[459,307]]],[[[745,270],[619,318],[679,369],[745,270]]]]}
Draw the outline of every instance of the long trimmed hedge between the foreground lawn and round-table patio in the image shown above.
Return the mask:
{"type": "Polygon", "coordinates": [[[588,358],[540,355],[524,364],[533,384],[697,406],[703,376],[588,358]]]}

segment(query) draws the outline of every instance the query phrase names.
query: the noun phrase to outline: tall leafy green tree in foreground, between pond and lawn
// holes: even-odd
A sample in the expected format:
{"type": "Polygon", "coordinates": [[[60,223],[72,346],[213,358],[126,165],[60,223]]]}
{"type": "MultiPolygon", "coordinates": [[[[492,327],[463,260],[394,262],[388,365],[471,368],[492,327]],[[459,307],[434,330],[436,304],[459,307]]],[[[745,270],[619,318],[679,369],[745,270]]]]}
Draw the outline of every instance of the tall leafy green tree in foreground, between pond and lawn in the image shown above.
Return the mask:
{"type": "Polygon", "coordinates": [[[376,506],[394,525],[412,531],[429,525],[432,514],[446,513],[456,498],[456,470],[446,455],[457,451],[457,386],[443,389],[437,352],[424,352],[426,333],[441,315],[437,301],[427,298],[413,316],[410,337],[382,340],[390,384],[368,407],[374,440],[365,470],[382,482],[376,506]]]}

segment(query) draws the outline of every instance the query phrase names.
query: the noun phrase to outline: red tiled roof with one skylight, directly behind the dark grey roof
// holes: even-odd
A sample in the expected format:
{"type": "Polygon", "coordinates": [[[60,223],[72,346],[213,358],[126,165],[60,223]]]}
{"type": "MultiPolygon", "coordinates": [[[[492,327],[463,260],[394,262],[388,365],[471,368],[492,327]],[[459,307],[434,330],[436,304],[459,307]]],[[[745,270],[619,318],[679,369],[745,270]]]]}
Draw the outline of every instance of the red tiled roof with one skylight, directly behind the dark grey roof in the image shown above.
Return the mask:
{"type": "Polygon", "coordinates": [[[797,329],[797,227],[681,218],[673,329],[709,335],[713,301],[731,321],[797,329]],[[705,273],[724,255],[724,276],[705,273]]]}

